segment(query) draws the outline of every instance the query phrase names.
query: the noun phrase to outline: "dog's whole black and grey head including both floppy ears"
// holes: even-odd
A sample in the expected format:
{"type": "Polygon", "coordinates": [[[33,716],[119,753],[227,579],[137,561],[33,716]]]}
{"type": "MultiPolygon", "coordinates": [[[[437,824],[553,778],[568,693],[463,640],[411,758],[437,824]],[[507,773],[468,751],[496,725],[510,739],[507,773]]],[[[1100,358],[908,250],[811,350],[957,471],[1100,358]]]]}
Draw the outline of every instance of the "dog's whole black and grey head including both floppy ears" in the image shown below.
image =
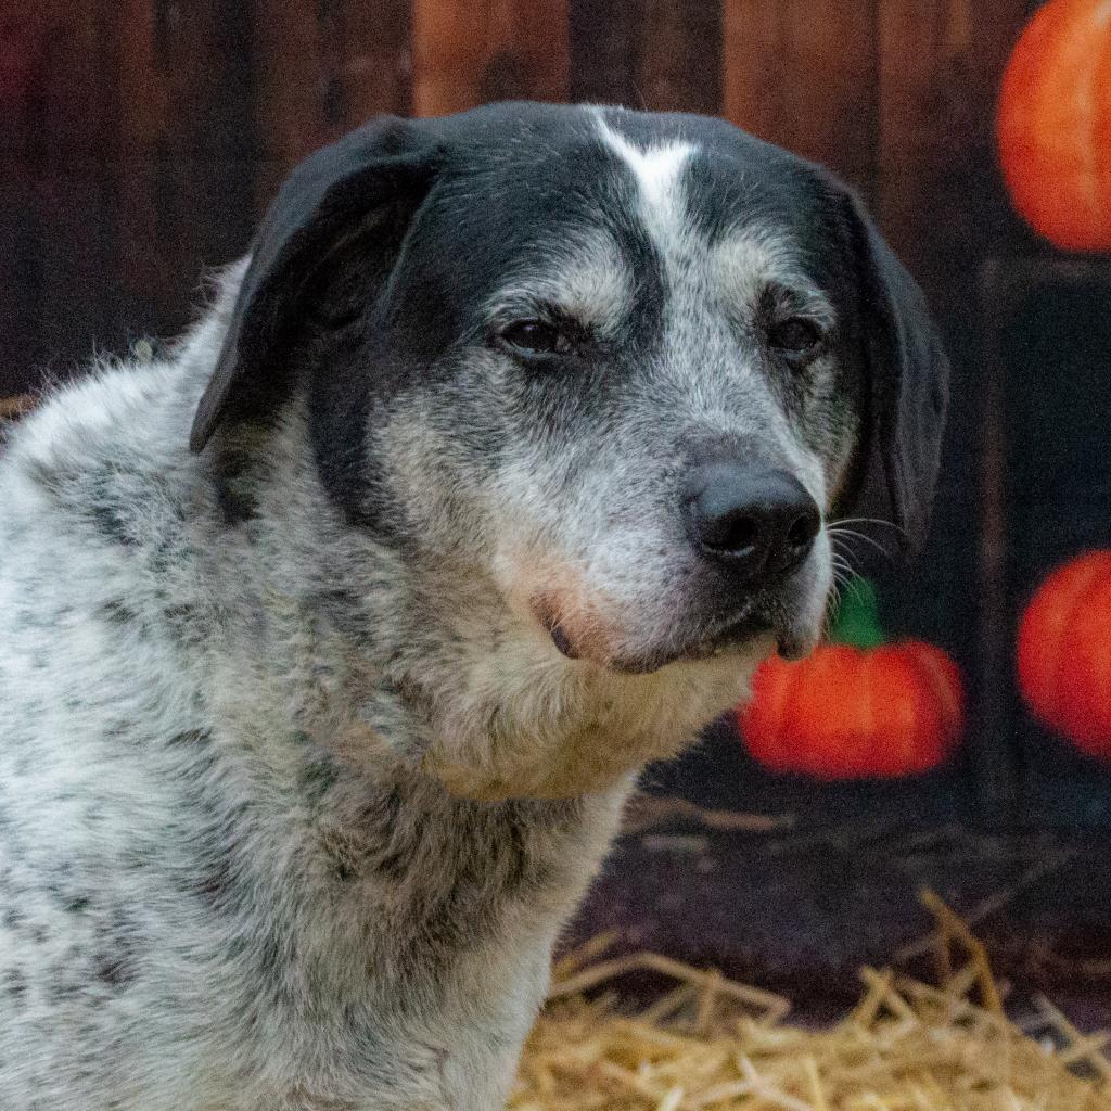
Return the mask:
{"type": "Polygon", "coordinates": [[[501,104],[294,171],[192,446],[301,397],[352,528],[642,673],[812,647],[865,476],[923,534],[947,377],[824,171],[719,120],[501,104]]]}

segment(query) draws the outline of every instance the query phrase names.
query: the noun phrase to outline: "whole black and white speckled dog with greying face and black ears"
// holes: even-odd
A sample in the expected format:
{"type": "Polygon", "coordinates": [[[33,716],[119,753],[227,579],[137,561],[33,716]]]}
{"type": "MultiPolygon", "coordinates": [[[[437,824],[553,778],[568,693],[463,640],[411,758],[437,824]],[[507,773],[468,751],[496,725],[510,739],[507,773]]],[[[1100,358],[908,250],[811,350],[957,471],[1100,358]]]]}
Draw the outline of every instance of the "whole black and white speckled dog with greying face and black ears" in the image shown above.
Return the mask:
{"type": "Polygon", "coordinates": [[[490,106],[311,156],[6,448],[0,1107],[490,1111],[638,770],[925,529],[948,367],[824,170],[490,106]]]}

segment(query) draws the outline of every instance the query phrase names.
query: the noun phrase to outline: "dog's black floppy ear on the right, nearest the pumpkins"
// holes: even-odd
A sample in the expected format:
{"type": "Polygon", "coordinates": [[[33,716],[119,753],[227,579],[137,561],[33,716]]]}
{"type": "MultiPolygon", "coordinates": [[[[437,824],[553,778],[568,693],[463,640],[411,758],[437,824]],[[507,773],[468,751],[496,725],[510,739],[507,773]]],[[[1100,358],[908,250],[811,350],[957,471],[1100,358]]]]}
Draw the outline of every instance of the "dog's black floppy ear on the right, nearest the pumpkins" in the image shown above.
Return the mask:
{"type": "MultiPolygon", "coordinates": [[[[865,487],[882,483],[883,512],[902,547],[919,550],[933,503],[949,404],[949,360],[925,298],[883,241],[861,201],[847,201],[869,376],[865,487]]],[[[873,504],[874,489],[863,500],[873,504]]]]}

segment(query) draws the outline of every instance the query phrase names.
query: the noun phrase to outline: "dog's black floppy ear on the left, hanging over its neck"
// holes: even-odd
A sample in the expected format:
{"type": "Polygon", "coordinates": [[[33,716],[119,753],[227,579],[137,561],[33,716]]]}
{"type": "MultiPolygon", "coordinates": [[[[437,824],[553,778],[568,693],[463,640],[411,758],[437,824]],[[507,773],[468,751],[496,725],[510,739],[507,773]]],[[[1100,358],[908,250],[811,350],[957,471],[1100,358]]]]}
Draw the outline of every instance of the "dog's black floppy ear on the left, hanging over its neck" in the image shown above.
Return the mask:
{"type": "MultiPolygon", "coordinates": [[[[311,154],[287,179],[254,237],[223,348],[193,418],[192,451],[201,451],[230,414],[272,403],[314,277],[336,244],[379,213],[396,224],[416,211],[439,162],[427,134],[419,123],[381,117],[311,154]]],[[[371,253],[373,236],[372,227],[371,253]]],[[[381,238],[390,244],[383,251],[397,248],[396,233],[381,238]]],[[[383,261],[367,259],[379,269],[383,261]]]]}

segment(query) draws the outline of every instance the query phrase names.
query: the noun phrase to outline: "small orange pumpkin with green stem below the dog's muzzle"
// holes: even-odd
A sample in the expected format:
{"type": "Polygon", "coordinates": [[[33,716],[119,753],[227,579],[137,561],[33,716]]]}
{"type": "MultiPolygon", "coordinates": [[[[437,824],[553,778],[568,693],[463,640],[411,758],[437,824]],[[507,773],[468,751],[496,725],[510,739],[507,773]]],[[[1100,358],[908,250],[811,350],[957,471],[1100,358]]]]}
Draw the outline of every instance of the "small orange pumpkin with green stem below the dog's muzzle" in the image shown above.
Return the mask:
{"type": "Polygon", "coordinates": [[[772,771],[822,780],[930,771],[964,724],[957,664],[922,641],[883,643],[867,580],[845,594],[833,638],[804,660],[767,660],[738,710],[749,752],[772,771]],[[843,641],[851,641],[844,643],[843,641]]]}

